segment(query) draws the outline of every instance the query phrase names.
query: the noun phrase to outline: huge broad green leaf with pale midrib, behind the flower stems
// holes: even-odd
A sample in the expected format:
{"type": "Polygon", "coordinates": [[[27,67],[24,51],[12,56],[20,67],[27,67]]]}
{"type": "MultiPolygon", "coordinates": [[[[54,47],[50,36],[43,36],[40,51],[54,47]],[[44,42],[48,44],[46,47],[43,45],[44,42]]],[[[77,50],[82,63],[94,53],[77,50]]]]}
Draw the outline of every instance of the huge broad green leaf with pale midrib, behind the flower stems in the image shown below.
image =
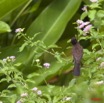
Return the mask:
{"type": "MultiPolygon", "coordinates": [[[[56,43],[64,32],[68,21],[78,10],[80,3],[81,0],[54,0],[30,25],[27,30],[27,35],[33,36],[41,32],[36,36],[34,41],[43,41],[46,46],[56,43]]],[[[20,61],[22,59],[22,61],[27,64],[34,57],[34,51],[40,53],[38,57],[43,53],[43,51],[37,47],[29,51],[30,55],[28,58],[26,57],[25,51],[25,53],[19,56],[18,60],[20,61]]],[[[34,58],[37,58],[37,56],[34,58]]]]}

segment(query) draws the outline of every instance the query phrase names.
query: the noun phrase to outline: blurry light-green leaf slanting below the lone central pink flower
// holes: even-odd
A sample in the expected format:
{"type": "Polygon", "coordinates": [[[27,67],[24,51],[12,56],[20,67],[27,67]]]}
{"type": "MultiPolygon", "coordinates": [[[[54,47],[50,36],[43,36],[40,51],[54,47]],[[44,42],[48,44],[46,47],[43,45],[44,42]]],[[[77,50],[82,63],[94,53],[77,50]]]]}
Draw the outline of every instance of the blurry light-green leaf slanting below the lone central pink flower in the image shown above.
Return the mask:
{"type": "MultiPolygon", "coordinates": [[[[34,75],[36,73],[33,73],[33,74],[29,74],[27,77],[32,77],[29,79],[34,80],[33,85],[39,85],[44,80],[46,80],[48,77],[57,74],[57,72],[60,70],[60,68],[65,65],[66,65],[66,61],[64,61],[64,60],[62,62],[57,62],[56,60],[54,60],[54,62],[51,63],[51,66],[48,70],[41,69],[41,72],[39,71],[40,74],[34,75]]],[[[27,79],[27,80],[29,80],[29,79],[27,79]]],[[[29,83],[29,85],[30,85],[30,83],[29,83]]]]}

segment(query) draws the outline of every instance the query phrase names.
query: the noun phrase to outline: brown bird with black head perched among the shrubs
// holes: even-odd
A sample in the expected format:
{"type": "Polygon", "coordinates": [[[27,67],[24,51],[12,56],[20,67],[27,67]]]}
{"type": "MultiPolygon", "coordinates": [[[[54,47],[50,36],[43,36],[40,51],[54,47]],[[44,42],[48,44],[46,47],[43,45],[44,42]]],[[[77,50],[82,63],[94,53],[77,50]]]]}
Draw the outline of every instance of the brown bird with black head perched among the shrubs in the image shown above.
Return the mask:
{"type": "Polygon", "coordinates": [[[81,59],[83,56],[83,47],[79,44],[77,39],[73,37],[71,39],[71,43],[73,45],[72,47],[72,55],[74,59],[74,69],[73,69],[73,74],[74,76],[79,76],[80,75],[80,68],[81,68],[81,59]]]}

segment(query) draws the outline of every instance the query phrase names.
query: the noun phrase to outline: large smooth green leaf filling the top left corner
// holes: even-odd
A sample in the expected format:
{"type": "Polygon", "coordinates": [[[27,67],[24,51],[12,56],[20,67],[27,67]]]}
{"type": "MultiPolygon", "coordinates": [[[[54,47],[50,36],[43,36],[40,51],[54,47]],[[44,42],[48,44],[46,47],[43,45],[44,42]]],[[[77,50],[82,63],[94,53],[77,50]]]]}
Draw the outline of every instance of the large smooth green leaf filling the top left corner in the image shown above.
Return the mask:
{"type": "Polygon", "coordinates": [[[0,0],[0,19],[28,0],[0,0]]]}

